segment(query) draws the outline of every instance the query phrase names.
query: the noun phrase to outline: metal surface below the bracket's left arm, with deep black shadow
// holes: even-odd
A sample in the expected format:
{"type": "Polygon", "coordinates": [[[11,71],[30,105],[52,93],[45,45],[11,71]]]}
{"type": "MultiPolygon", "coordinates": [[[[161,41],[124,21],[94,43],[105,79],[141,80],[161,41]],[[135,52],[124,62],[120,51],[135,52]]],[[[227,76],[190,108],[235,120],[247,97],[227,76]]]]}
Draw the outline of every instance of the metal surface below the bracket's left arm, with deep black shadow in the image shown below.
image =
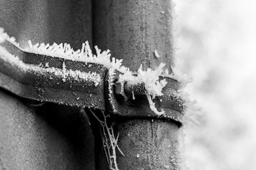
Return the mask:
{"type": "Polygon", "coordinates": [[[93,169],[93,135],[80,108],[38,104],[0,89],[0,169],[93,169]]]}

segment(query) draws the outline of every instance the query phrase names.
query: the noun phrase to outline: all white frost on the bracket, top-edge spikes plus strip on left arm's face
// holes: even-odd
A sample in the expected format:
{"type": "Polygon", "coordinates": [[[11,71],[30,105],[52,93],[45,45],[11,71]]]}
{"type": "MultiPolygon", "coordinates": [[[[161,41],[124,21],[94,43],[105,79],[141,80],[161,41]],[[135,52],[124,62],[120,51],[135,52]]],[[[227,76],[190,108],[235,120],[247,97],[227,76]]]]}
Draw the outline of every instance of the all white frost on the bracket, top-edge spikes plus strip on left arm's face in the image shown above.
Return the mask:
{"type": "MultiPolygon", "coordinates": [[[[151,110],[154,111],[154,113],[157,115],[164,114],[164,111],[157,111],[156,107],[154,106],[154,102],[152,101],[152,99],[154,99],[156,96],[163,96],[162,89],[167,83],[165,79],[159,80],[159,76],[163,73],[163,63],[161,63],[155,70],[148,68],[146,71],[144,71],[142,66],[140,66],[138,73],[133,73],[129,70],[128,67],[122,66],[122,60],[115,59],[114,57],[111,58],[109,50],[101,52],[101,50],[95,46],[96,55],[93,54],[88,41],[83,43],[80,50],[76,51],[73,50],[73,48],[71,48],[71,46],[67,43],[61,43],[60,45],[57,45],[56,43],[53,45],[36,43],[33,45],[31,41],[28,41],[28,45],[25,48],[22,48],[18,43],[15,42],[15,38],[10,38],[8,34],[3,31],[3,29],[0,29],[0,43],[3,43],[5,40],[13,43],[13,45],[17,46],[17,48],[24,52],[48,55],[51,57],[59,57],[68,60],[76,60],[85,63],[91,62],[95,64],[102,64],[109,69],[109,86],[113,85],[112,79],[114,76],[113,74],[115,74],[115,70],[122,73],[118,78],[118,82],[121,84],[124,84],[124,82],[127,82],[131,85],[145,83],[146,94],[151,110]],[[134,76],[134,74],[136,74],[136,76],[134,76]]],[[[1,47],[1,50],[7,53],[3,47],[1,47]]],[[[10,52],[8,53],[10,54],[10,52]]],[[[159,56],[157,52],[155,52],[155,54],[156,56],[159,56]]],[[[13,55],[8,56],[13,60],[13,62],[17,62],[16,64],[18,64],[23,69],[36,69],[33,66],[26,66],[27,64],[24,64],[21,60],[13,55]]],[[[68,76],[72,76],[74,78],[83,78],[84,80],[94,81],[95,86],[101,82],[97,73],[83,73],[81,71],[67,70],[65,68],[65,63],[63,63],[63,69],[56,69],[54,67],[38,67],[37,69],[39,69],[37,71],[50,72],[58,76],[62,76],[63,81],[65,81],[68,76]]]]}

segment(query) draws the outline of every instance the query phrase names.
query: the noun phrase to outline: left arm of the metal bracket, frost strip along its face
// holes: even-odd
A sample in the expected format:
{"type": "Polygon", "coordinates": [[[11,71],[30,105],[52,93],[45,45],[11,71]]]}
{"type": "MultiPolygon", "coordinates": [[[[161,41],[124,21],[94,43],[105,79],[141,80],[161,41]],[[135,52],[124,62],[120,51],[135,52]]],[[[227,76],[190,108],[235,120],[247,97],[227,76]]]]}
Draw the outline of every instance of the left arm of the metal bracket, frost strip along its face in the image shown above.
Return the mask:
{"type": "Polygon", "coordinates": [[[26,66],[35,68],[23,69],[17,63],[4,60],[4,54],[0,53],[0,87],[3,89],[36,101],[105,109],[104,81],[95,86],[92,81],[86,81],[83,78],[72,76],[65,78],[47,71],[40,72],[40,70],[54,68],[56,71],[61,71],[65,63],[66,70],[81,71],[81,73],[94,72],[104,80],[108,71],[106,67],[23,52],[7,41],[1,46],[17,56],[26,66]]]}

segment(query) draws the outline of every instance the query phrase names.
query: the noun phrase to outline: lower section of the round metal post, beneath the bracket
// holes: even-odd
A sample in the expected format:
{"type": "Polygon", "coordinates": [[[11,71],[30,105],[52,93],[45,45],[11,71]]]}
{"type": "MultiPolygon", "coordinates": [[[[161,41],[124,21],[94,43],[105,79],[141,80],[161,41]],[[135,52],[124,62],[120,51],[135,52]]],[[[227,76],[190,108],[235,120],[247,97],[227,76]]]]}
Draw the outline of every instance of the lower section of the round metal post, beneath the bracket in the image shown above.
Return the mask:
{"type": "Polygon", "coordinates": [[[179,169],[179,127],[159,119],[119,120],[120,169],[179,169]]]}

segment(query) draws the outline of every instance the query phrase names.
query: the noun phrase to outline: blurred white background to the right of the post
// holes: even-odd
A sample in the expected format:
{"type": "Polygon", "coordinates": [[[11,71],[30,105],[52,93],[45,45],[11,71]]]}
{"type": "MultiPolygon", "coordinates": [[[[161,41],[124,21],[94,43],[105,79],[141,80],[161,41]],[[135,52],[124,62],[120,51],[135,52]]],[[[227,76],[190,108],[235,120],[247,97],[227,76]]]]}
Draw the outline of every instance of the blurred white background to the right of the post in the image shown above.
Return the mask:
{"type": "Polygon", "coordinates": [[[203,114],[186,125],[187,166],[256,169],[256,1],[174,3],[175,55],[203,114]]]}

